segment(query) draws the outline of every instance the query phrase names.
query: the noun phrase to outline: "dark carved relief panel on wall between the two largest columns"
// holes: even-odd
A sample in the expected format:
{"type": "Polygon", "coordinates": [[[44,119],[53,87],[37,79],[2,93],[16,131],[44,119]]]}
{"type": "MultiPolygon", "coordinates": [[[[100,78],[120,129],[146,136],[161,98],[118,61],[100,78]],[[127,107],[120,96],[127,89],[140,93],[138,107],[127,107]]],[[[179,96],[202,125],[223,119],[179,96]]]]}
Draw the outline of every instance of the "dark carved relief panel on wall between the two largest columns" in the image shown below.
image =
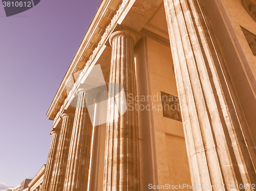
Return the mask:
{"type": "Polygon", "coordinates": [[[179,98],[161,91],[163,116],[182,122],[179,98]]]}

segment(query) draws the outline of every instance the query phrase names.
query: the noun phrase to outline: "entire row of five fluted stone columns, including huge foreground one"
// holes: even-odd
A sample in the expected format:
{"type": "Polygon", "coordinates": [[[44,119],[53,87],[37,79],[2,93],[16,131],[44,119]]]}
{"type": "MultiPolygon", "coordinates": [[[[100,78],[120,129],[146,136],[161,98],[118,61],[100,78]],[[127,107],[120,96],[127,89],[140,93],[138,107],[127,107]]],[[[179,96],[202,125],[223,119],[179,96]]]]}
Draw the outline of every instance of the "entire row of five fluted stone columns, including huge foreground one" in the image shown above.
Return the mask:
{"type": "MultiPolygon", "coordinates": [[[[255,183],[255,151],[248,150],[253,145],[243,136],[247,126],[234,106],[201,0],[164,0],[164,7],[193,185],[255,183]]],[[[127,31],[110,37],[110,83],[121,84],[126,98],[128,93],[136,96],[134,42],[127,31]]],[[[121,92],[118,88],[110,86],[111,98],[121,92]]],[[[79,89],[75,115],[63,114],[60,134],[52,131],[43,191],[88,189],[92,124],[86,99],[93,96],[79,89]]],[[[113,121],[114,102],[109,99],[103,190],[140,190],[137,111],[113,121]]]]}

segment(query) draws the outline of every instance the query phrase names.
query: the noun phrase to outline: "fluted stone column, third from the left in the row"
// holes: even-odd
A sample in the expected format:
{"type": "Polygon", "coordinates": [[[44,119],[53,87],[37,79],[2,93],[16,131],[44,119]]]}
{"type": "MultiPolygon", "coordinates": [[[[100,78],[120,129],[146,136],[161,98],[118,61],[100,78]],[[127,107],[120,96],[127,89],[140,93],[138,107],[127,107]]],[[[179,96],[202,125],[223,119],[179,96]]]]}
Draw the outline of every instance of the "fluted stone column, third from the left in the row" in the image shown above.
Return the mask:
{"type": "Polygon", "coordinates": [[[92,101],[93,95],[82,88],[78,89],[77,107],[64,185],[65,191],[87,190],[92,141],[92,123],[88,110],[85,107],[86,100],[92,101]]]}

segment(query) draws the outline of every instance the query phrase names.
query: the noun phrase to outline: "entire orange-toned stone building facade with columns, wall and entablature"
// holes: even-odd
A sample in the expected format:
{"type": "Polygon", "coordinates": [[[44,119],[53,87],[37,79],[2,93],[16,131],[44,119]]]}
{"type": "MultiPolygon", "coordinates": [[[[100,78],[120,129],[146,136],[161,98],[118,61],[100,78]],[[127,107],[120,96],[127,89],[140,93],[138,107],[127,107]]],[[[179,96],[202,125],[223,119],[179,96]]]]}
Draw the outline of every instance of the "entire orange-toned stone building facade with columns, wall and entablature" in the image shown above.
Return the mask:
{"type": "Polygon", "coordinates": [[[254,5],[103,0],[47,112],[40,191],[255,189],[254,5]]]}

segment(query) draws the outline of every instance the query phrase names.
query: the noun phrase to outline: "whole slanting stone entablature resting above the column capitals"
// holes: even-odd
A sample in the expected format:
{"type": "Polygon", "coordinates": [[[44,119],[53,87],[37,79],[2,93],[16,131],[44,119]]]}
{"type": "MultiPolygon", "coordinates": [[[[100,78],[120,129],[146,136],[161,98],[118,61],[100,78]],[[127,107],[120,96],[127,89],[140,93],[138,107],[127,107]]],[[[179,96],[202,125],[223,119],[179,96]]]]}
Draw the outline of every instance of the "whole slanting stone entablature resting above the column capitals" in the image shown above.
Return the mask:
{"type": "MultiPolygon", "coordinates": [[[[114,2],[114,1],[112,1],[114,2]]],[[[51,107],[48,110],[47,116],[49,117],[50,120],[54,119],[54,127],[57,126],[57,124],[60,122],[60,116],[63,113],[63,111],[67,110],[71,101],[74,99],[76,95],[76,91],[82,81],[88,76],[90,73],[91,69],[93,66],[96,64],[97,59],[99,59],[100,55],[104,51],[106,45],[109,45],[109,37],[114,32],[115,30],[118,30],[120,28],[125,28],[125,29],[130,29],[135,33],[135,35],[138,37],[137,40],[142,36],[151,36],[150,33],[145,32],[146,30],[143,29],[143,27],[146,25],[147,21],[154,16],[155,12],[159,9],[160,5],[162,4],[162,0],[156,0],[156,1],[151,1],[151,0],[123,0],[119,1],[119,4],[116,2],[115,5],[118,6],[116,8],[115,12],[109,11],[109,9],[102,9],[99,8],[99,10],[105,10],[104,14],[101,16],[104,17],[109,17],[111,20],[109,21],[108,25],[102,27],[101,22],[97,22],[97,25],[95,24],[94,27],[90,27],[87,34],[84,36],[83,41],[86,41],[86,45],[80,45],[75,58],[80,58],[78,60],[83,60],[84,64],[81,69],[77,68],[75,69],[74,66],[72,70],[72,75],[65,76],[63,79],[59,90],[54,98],[54,101],[51,105],[51,107]],[[120,3],[121,2],[121,3],[120,3]],[[104,16],[105,15],[105,16],[104,16]],[[127,16],[128,15],[128,16],[127,16]],[[138,23],[134,25],[134,20],[131,20],[132,18],[137,17],[138,18],[138,23]],[[100,28],[101,26],[102,28],[100,28]],[[94,28],[94,29],[91,29],[94,28]],[[141,34],[140,34],[141,32],[141,34]],[[88,34],[90,33],[90,34],[88,34]],[[94,34],[95,33],[95,34],[94,34]],[[93,37],[97,35],[97,40],[93,39],[93,37]],[[90,40],[89,40],[90,39],[90,40]],[[96,43],[97,42],[97,43],[96,43]],[[93,45],[92,45],[93,44],[93,45]],[[93,49],[91,52],[87,52],[88,49],[93,49]],[[86,55],[90,55],[88,58],[84,58],[83,55],[86,53],[86,55]],[[78,73],[76,73],[78,70],[80,70],[78,73]],[[74,73],[76,73],[74,75],[74,73]],[[69,77],[69,78],[68,78],[69,77]],[[71,81],[70,81],[71,80],[71,81]],[[71,82],[71,86],[68,87],[68,83],[71,82]],[[67,88],[67,89],[65,89],[67,88]],[[62,89],[62,91],[60,91],[62,89]],[[63,96],[66,91],[66,97],[65,99],[61,100],[60,104],[58,105],[57,103],[59,102],[60,98],[58,97],[58,94],[60,96],[63,96]],[[62,94],[61,94],[62,93],[62,94]],[[59,98],[59,99],[58,99],[59,98]],[[53,112],[54,111],[54,112],[53,112]]],[[[109,4],[109,6],[112,4],[109,4]]],[[[101,5],[102,6],[102,5],[101,5]]],[[[115,6],[114,6],[115,7],[115,6]]],[[[112,7],[112,9],[114,9],[112,7]]],[[[103,20],[103,17],[101,20],[103,20]]],[[[94,19],[95,20],[95,19],[94,19]]],[[[93,22],[95,22],[93,20],[93,22]]],[[[98,18],[99,20],[99,18],[98,18]]],[[[137,21],[137,20],[136,20],[137,21]]],[[[93,23],[92,22],[92,23],[93,23]]],[[[160,38],[158,38],[160,39],[160,38]]],[[[161,40],[161,39],[160,39],[161,40]]],[[[167,40],[168,41],[168,40],[167,40]]],[[[75,63],[79,65],[79,61],[76,60],[75,63]]],[[[72,62],[73,63],[73,62],[72,62]]],[[[69,70],[68,70],[69,72],[69,70]]]]}

